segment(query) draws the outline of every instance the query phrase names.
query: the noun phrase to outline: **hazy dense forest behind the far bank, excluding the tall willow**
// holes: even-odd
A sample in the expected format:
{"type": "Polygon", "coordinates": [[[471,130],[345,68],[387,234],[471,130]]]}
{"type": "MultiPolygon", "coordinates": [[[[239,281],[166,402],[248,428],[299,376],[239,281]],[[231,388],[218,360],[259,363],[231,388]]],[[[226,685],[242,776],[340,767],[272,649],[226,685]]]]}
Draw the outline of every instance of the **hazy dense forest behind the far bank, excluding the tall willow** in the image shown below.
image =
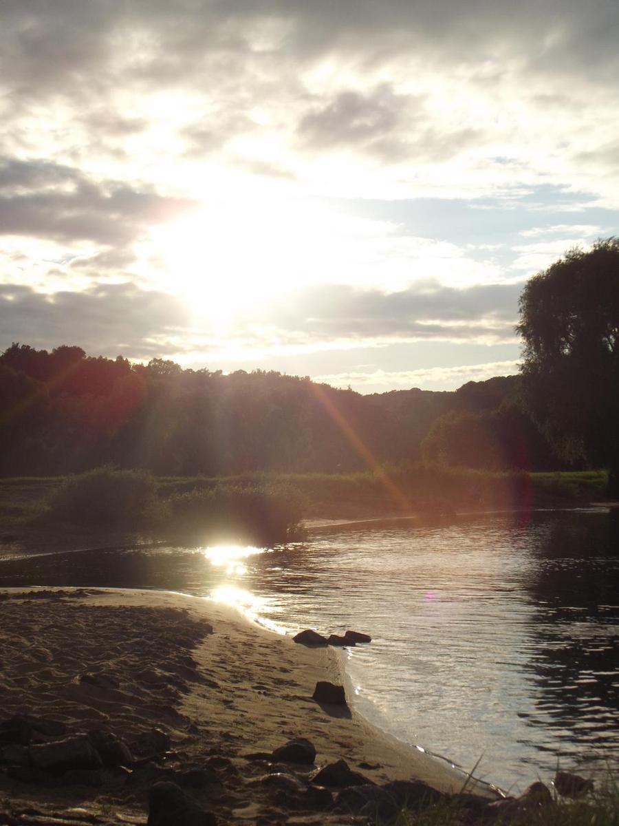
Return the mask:
{"type": "Polygon", "coordinates": [[[0,474],[103,463],[159,475],[348,472],[421,458],[451,467],[556,469],[519,404],[520,378],[361,396],[262,370],[229,375],[154,358],[12,344],[0,356],[0,474]]]}

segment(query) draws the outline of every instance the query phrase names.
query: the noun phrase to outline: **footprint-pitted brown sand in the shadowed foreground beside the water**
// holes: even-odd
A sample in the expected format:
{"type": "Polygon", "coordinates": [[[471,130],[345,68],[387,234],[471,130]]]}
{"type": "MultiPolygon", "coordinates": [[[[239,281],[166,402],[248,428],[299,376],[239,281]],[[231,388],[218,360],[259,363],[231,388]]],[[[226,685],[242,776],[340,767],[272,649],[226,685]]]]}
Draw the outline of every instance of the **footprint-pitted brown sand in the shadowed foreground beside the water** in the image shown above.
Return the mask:
{"type": "Polygon", "coordinates": [[[64,724],[67,735],[105,729],[137,758],[131,771],[108,771],[102,786],[85,785],[87,775],[43,785],[30,768],[7,772],[5,761],[0,824],[144,824],[149,786],[161,780],[191,787],[224,824],[360,822],[328,805],[320,811],[328,799],[307,792],[309,772],[340,758],[376,783],[414,778],[461,789],[446,763],[311,699],[316,681],[341,681],[332,650],[297,645],[211,601],[6,589],[0,657],[0,723],[30,714],[64,724]],[[165,748],[154,729],[168,735],[165,748]],[[299,737],[314,743],[314,766],[255,756],[299,737]]]}

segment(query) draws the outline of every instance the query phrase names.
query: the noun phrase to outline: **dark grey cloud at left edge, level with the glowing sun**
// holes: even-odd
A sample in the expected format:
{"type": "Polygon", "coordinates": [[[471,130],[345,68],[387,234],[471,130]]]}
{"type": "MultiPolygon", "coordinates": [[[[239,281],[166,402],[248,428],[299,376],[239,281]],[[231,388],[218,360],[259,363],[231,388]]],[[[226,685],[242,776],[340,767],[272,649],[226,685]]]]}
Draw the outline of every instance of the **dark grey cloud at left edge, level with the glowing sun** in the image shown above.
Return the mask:
{"type": "Polygon", "coordinates": [[[78,169],[45,161],[0,161],[0,234],[128,244],[145,226],[196,202],[95,183],[78,169]]]}

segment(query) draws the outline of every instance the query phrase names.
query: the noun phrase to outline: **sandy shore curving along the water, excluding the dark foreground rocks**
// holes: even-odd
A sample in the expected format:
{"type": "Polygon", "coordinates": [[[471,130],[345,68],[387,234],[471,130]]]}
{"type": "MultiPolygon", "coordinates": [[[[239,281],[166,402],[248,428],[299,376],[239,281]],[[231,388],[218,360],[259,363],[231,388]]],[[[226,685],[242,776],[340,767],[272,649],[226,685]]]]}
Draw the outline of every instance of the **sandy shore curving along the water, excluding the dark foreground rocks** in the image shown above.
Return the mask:
{"type": "MultiPolygon", "coordinates": [[[[341,665],[333,652],[293,643],[234,608],[173,591],[40,586],[0,593],[7,595],[0,628],[6,646],[3,715],[61,717],[73,730],[122,724],[122,732],[138,738],[160,725],[182,755],[177,771],[217,758],[237,776],[237,786],[243,780],[238,793],[221,797],[224,822],[253,823],[259,816],[284,822],[268,786],[261,785],[273,771],[263,758],[298,737],[314,743],[316,767],[344,759],[379,785],[414,779],[442,793],[461,791],[461,772],[440,758],[396,741],[354,707],[342,714],[312,699],[316,681],[339,681],[341,665]],[[207,624],[212,634],[200,630],[207,624]],[[95,675],[80,676],[80,669],[95,675]],[[262,754],[262,762],[248,761],[252,753],[262,754]]],[[[2,796],[7,778],[0,777],[2,796]]],[[[138,790],[137,797],[124,787],[113,791],[120,814],[135,815],[143,807],[144,789],[138,790]]],[[[467,787],[473,790],[490,800],[500,796],[480,784],[467,787]]],[[[14,781],[12,794],[13,810],[20,801],[58,808],[72,799],[62,789],[14,781]]],[[[83,791],[79,795],[84,798],[83,791]]],[[[106,794],[97,797],[91,790],[86,796],[94,814],[97,806],[109,805],[106,794]]],[[[323,822],[328,818],[317,821],[323,822]]]]}

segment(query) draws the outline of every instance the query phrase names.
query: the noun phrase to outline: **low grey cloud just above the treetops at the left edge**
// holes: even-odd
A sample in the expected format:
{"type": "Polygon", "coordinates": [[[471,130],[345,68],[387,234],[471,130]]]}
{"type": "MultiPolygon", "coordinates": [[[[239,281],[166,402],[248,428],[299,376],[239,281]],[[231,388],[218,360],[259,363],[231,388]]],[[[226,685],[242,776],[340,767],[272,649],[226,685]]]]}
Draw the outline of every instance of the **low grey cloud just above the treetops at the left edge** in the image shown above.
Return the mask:
{"type": "Polygon", "coordinates": [[[0,285],[0,349],[13,341],[40,348],[79,344],[90,354],[151,358],[161,354],[161,347],[150,339],[186,324],[187,311],[179,301],[129,283],[53,295],[0,285]]]}

